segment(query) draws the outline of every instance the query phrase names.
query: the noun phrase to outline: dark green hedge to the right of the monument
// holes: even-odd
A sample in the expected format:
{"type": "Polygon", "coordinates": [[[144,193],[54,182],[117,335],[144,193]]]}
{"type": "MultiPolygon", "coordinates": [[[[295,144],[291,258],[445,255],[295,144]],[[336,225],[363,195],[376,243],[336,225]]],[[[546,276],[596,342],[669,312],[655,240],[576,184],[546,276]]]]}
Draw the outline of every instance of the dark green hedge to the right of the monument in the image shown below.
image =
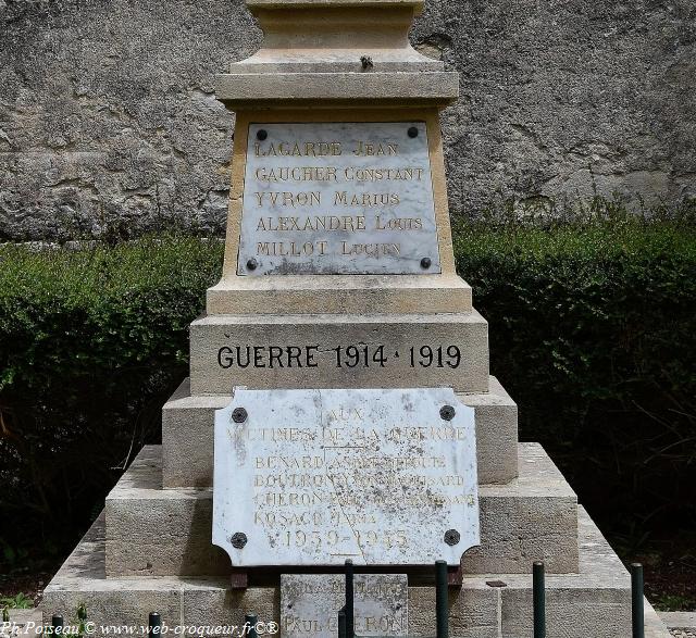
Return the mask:
{"type": "Polygon", "coordinates": [[[581,501],[632,543],[696,522],[696,226],[461,227],[492,372],[581,501]]]}

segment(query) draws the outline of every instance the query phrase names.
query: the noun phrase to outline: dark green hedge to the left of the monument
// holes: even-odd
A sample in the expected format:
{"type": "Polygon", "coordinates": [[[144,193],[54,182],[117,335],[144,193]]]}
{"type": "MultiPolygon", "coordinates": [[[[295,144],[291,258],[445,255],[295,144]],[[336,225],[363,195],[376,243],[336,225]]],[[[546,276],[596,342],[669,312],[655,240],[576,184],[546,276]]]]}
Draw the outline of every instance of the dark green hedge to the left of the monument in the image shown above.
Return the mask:
{"type": "Polygon", "coordinates": [[[190,238],[0,249],[0,547],[70,546],[158,440],[221,258],[190,238]]]}

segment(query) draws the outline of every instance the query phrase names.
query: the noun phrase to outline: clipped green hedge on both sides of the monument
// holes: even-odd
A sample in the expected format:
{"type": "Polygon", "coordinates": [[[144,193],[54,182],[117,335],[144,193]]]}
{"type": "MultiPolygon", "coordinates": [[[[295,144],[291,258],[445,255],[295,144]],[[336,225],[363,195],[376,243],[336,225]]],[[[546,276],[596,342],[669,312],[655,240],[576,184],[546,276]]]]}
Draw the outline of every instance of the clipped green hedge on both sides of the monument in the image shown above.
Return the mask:
{"type": "MultiPolygon", "coordinates": [[[[617,534],[678,512],[693,524],[695,227],[638,220],[455,236],[521,438],[542,441],[617,534]]],[[[133,454],[157,442],[161,404],[186,374],[187,325],[221,260],[220,242],[186,237],[0,248],[5,549],[37,536],[69,547],[133,454]]]]}

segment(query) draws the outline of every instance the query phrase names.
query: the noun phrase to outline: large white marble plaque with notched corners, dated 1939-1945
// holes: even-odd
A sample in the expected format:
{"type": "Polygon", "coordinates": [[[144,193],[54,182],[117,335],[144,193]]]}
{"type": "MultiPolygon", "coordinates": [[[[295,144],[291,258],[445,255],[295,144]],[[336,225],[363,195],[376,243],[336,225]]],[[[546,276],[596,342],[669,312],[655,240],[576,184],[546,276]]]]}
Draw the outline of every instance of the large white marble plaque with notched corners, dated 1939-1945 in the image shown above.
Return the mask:
{"type": "Polygon", "coordinates": [[[235,389],[213,542],[234,566],[459,564],[478,543],[473,409],[450,388],[235,389]]]}

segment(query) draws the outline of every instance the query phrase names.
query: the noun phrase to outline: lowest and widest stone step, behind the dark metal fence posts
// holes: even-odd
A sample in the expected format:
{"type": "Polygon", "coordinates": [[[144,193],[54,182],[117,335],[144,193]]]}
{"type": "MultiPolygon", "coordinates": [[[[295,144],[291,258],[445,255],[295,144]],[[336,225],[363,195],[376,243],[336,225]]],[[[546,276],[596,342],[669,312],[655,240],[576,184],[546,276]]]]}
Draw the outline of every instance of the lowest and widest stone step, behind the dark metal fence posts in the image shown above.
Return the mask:
{"type": "MultiPolygon", "coordinates": [[[[157,535],[153,531],[153,535],[157,535]]],[[[546,577],[548,638],[627,638],[631,635],[630,577],[601,534],[579,509],[580,561],[577,574],[546,577]]],[[[104,516],[95,523],[44,593],[45,617],[72,617],[78,604],[89,620],[108,625],[145,624],[151,611],[164,625],[241,625],[244,614],[279,623],[278,587],[231,591],[225,578],[130,577],[107,578],[104,516]]],[[[531,570],[531,561],[527,565],[531,570]]],[[[531,638],[532,579],[529,574],[465,576],[462,588],[449,597],[452,638],[531,638]],[[505,587],[488,583],[502,581],[505,587]]],[[[409,633],[433,636],[435,592],[432,587],[409,588],[409,633]]],[[[668,638],[663,625],[646,605],[649,638],[668,638]]]]}

